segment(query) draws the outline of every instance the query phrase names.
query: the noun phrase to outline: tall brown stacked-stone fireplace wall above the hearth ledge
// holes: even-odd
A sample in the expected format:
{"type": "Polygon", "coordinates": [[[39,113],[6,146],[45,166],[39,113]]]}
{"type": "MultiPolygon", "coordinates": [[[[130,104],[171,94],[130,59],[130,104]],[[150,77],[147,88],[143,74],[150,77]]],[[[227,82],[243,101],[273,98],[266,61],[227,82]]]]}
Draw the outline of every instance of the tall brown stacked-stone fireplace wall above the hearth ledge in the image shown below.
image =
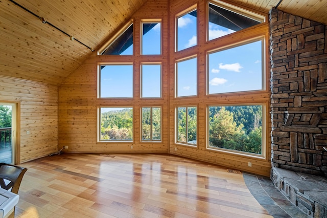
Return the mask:
{"type": "Polygon", "coordinates": [[[269,15],[272,166],[327,176],[327,27],[269,15]]]}

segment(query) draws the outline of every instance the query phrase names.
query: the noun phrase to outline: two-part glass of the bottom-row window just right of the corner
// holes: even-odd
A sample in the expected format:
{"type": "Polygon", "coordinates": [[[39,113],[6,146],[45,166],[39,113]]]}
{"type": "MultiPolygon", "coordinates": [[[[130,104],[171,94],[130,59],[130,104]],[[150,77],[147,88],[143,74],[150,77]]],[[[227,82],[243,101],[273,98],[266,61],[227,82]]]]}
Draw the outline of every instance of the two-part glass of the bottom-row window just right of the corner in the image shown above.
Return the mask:
{"type": "Polygon", "coordinates": [[[177,139],[179,143],[197,144],[197,107],[177,107],[177,139]]]}

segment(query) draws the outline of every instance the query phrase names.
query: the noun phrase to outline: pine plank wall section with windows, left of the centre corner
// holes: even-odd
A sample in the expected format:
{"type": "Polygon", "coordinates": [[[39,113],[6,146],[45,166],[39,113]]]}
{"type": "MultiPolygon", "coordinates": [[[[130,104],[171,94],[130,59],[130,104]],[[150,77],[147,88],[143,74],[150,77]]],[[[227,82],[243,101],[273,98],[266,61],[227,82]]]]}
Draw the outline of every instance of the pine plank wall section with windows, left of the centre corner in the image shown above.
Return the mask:
{"type": "MultiPolygon", "coordinates": [[[[68,152],[168,152],[168,2],[148,1],[133,16],[134,55],[98,56],[96,52],[59,87],[59,149],[68,145],[68,152]],[[162,55],[140,55],[141,19],[160,18],[162,32],[162,55]],[[98,63],[134,62],[133,99],[97,99],[98,63]],[[142,62],[161,62],[162,99],[140,98],[140,69],[142,62]],[[133,106],[134,142],[97,142],[97,108],[99,106],[133,106]],[[140,108],[161,106],[162,141],[141,143],[140,108]],[[131,146],[133,148],[131,149],[131,146]]],[[[122,24],[124,26],[125,24],[122,24]]],[[[109,40],[109,38],[108,38],[109,40]]]]}

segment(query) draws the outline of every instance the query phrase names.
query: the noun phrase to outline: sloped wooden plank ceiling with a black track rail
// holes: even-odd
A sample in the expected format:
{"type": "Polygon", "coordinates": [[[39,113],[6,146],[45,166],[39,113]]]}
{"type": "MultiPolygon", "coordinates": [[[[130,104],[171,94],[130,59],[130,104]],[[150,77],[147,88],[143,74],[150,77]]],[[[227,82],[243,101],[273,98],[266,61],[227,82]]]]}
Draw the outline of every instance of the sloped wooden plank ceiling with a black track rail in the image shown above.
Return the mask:
{"type": "MultiPolygon", "coordinates": [[[[96,50],[103,45],[147,0],[14,2],[0,0],[0,76],[60,85],[92,53],[92,48],[96,50]],[[48,24],[43,24],[38,17],[43,17],[48,24]]],[[[327,24],[325,0],[226,2],[266,13],[280,3],[279,10],[327,24]]]]}

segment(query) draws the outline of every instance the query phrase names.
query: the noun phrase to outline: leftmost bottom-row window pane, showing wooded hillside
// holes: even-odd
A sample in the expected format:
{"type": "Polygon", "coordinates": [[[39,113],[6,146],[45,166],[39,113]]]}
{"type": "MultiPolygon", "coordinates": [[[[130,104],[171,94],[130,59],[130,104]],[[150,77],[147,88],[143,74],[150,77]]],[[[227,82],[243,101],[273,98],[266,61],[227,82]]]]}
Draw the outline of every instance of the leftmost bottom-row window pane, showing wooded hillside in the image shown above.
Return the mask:
{"type": "Polygon", "coordinates": [[[133,140],[133,108],[101,107],[101,140],[133,140]]]}

